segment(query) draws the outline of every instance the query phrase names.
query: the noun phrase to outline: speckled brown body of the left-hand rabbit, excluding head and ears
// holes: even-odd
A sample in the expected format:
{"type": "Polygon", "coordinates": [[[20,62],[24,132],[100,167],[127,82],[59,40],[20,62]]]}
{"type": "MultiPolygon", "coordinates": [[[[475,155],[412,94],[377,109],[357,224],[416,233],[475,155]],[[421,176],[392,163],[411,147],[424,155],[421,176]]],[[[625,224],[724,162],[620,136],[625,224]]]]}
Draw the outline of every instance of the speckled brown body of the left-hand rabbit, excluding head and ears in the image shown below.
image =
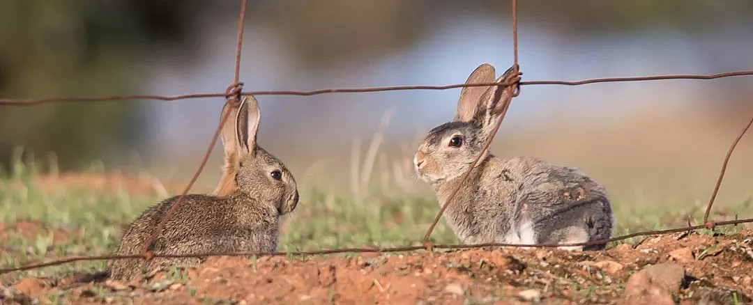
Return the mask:
{"type": "MultiPolygon", "coordinates": [[[[177,196],[145,210],[127,229],[117,255],[138,255],[177,196]]],[[[271,204],[262,204],[247,195],[228,197],[186,195],[157,240],[149,248],[160,254],[272,252],[279,236],[279,215],[271,204]]],[[[114,279],[130,279],[168,265],[194,265],[203,258],[141,258],[111,261],[114,279]]]]}

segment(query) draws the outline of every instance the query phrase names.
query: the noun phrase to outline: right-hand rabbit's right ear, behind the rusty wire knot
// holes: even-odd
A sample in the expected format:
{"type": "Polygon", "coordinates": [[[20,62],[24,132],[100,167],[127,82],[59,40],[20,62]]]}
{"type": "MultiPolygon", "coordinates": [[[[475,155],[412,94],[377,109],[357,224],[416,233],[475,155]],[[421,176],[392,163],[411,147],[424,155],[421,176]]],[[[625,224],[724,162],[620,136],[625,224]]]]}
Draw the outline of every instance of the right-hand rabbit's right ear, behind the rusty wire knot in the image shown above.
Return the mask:
{"type": "MultiPolygon", "coordinates": [[[[513,73],[513,68],[505,71],[495,83],[501,83],[509,74],[513,73]]],[[[497,120],[500,118],[501,113],[508,107],[515,92],[515,85],[513,86],[490,86],[481,95],[480,103],[478,104],[477,116],[475,119],[480,120],[480,125],[484,131],[489,132],[497,120]]]]}

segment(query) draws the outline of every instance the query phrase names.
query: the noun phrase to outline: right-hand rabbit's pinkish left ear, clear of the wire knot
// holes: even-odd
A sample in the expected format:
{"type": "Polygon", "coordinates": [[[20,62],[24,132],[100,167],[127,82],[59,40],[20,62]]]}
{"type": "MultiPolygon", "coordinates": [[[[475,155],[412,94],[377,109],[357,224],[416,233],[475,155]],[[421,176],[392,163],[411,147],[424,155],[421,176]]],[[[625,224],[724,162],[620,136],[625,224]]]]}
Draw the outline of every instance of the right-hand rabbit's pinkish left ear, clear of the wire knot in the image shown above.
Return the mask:
{"type": "MultiPolygon", "coordinates": [[[[494,81],[494,66],[482,64],[476,68],[465,83],[492,83],[494,81]]],[[[455,121],[469,122],[477,114],[481,95],[489,87],[463,87],[458,99],[455,121]]]]}

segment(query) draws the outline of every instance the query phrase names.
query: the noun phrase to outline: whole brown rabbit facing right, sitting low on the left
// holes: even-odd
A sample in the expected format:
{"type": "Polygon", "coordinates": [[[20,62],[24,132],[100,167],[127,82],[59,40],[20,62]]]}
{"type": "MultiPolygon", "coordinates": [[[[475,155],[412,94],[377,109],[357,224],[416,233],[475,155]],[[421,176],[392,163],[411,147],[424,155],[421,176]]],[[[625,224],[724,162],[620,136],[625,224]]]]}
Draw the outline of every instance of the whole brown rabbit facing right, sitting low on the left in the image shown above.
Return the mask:
{"type": "MultiPolygon", "coordinates": [[[[203,252],[273,252],[280,217],[298,204],[293,175],[279,159],[256,144],[260,111],[251,96],[228,103],[221,138],[225,165],[212,195],[186,195],[150,251],[163,254],[203,252]]],[[[127,228],[117,255],[137,255],[178,196],[148,208],[127,228]]],[[[200,258],[111,260],[112,279],[129,280],[169,265],[199,264],[200,258]]]]}

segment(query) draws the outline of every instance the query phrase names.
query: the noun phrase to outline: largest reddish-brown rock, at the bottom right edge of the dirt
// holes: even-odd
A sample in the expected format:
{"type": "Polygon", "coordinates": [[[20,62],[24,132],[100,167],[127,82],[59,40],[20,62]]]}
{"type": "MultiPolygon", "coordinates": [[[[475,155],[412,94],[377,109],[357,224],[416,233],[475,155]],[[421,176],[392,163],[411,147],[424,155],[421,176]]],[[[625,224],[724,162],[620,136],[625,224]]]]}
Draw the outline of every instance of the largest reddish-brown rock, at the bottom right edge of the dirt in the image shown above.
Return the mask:
{"type": "Polygon", "coordinates": [[[625,287],[626,303],[674,304],[685,277],[685,270],[677,264],[655,264],[644,267],[630,276],[625,287]]]}

